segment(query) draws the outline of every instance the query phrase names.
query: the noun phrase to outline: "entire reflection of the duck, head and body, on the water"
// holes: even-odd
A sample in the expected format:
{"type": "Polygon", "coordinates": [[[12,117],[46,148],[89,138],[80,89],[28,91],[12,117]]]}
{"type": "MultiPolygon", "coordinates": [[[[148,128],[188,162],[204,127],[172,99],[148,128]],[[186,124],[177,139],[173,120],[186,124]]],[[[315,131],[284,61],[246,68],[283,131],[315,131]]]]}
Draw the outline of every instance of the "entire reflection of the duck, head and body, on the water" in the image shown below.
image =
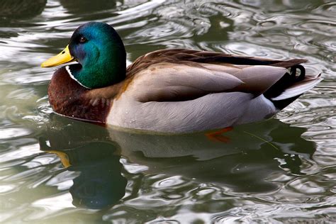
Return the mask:
{"type": "Polygon", "coordinates": [[[104,208],[125,194],[128,175],[121,155],[145,165],[145,174],[179,175],[235,192],[273,191],[279,186],[266,180],[271,174],[300,175],[301,159],[315,152],[314,143],[301,138],[305,131],[271,119],[235,127],[210,140],[208,133],[130,133],[52,116],[40,145],[58,155],[67,169],[80,172],[70,188],[75,206],[104,208]]]}

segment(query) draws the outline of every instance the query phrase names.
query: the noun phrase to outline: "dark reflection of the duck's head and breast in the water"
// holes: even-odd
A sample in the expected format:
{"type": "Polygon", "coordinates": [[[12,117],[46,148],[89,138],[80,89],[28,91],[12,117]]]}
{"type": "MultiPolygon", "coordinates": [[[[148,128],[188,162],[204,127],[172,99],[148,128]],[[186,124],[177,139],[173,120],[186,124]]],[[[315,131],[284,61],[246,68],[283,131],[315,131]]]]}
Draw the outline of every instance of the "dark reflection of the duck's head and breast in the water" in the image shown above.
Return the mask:
{"type": "Polygon", "coordinates": [[[69,171],[79,172],[69,189],[74,206],[100,209],[123,198],[127,179],[122,175],[120,149],[108,140],[108,131],[91,124],[82,129],[72,121],[66,123],[67,118],[54,118],[46,138],[39,140],[40,150],[56,154],[69,171]]]}

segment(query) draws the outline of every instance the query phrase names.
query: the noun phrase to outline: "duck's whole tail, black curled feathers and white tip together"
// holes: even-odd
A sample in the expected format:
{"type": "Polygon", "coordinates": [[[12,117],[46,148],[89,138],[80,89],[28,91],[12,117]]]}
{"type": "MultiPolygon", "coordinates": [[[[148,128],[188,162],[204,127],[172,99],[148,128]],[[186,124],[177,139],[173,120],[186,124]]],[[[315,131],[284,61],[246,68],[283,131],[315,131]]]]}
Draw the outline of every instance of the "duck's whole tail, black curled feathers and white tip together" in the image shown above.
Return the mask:
{"type": "Polygon", "coordinates": [[[284,74],[284,77],[264,93],[264,96],[281,110],[322,80],[320,74],[306,76],[306,69],[302,65],[293,65],[290,67],[290,72],[284,74]]]}

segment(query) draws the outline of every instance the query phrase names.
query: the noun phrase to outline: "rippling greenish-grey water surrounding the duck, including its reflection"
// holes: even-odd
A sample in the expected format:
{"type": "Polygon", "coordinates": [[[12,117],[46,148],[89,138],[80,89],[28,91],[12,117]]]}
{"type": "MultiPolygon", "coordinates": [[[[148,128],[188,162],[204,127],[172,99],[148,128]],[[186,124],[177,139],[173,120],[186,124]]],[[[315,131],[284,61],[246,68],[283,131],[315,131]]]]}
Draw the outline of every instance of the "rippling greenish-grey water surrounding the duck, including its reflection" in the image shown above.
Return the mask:
{"type": "Polygon", "coordinates": [[[4,0],[0,26],[1,223],[336,222],[335,1],[4,0]],[[94,20],[128,63],[166,47],[303,57],[324,81],[222,141],[56,116],[40,63],[94,20]]]}

